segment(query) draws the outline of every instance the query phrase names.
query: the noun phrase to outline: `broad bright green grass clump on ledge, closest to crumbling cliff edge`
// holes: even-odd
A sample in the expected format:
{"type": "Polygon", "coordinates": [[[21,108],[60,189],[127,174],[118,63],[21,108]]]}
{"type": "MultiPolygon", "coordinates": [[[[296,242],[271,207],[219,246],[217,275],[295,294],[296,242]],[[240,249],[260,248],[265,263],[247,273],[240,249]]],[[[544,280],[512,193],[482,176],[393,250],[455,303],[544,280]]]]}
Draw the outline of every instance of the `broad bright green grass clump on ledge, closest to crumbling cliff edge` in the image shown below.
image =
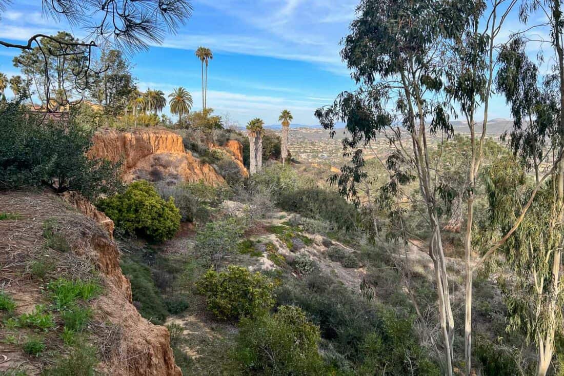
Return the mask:
{"type": "Polygon", "coordinates": [[[47,285],[55,307],[62,311],[76,305],[78,300],[88,301],[102,292],[102,286],[96,281],[76,279],[57,279],[47,285]]]}

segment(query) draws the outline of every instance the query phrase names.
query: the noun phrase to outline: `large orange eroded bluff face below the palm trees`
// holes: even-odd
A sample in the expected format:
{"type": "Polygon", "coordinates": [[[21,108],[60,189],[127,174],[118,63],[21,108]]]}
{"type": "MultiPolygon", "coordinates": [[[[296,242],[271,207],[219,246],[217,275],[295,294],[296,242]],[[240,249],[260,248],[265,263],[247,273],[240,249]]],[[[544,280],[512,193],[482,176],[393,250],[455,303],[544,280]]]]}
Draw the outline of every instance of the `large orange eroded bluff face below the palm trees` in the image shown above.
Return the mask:
{"type": "Polygon", "coordinates": [[[165,129],[109,130],[94,134],[91,158],[123,161],[125,181],[149,180],[176,183],[203,180],[209,185],[225,181],[211,165],[184,150],[180,135],[165,129]]]}

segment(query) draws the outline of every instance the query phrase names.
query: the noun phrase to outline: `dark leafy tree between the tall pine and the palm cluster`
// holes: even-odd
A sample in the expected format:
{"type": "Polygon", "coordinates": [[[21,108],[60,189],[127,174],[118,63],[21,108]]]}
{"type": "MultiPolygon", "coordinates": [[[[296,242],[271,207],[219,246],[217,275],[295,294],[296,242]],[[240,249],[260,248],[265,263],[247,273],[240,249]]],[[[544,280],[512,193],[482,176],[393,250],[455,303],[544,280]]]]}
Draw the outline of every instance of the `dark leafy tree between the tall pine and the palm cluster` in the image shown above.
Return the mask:
{"type": "Polygon", "coordinates": [[[131,64],[121,51],[102,49],[95,67],[102,73],[89,85],[90,97],[104,108],[105,114],[120,115],[135,90],[131,64]]]}

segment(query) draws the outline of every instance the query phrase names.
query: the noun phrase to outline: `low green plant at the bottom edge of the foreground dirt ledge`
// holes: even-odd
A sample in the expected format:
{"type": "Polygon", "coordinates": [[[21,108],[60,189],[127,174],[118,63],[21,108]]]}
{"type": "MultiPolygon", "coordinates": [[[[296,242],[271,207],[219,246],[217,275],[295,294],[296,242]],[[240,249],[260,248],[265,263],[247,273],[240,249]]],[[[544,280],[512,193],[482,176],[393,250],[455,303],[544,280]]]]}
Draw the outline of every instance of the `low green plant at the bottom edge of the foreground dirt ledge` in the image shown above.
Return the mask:
{"type": "Polygon", "coordinates": [[[55,365],[43,370],[42,376],[94,376],[96,349],[88,345],[77,345],[67,357],[60,357],[55,365]]]}

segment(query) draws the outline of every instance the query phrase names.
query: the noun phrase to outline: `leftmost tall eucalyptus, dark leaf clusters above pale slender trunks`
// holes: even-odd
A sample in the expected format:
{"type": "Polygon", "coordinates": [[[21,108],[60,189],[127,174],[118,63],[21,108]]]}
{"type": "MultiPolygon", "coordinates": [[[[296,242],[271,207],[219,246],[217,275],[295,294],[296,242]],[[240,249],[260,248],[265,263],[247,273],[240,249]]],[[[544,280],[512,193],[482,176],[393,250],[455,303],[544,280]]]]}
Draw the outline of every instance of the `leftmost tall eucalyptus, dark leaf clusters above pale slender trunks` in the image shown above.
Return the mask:
{"type": "MultiPolygon", "coordinates": [[[[342,143],[351,163],[332,177],[343,195],[358,196],[368,178],[363,149],[384,135],[393,147],[382,160],[389,181],[371,200],[389,214],[389,234],[408,242],[411,237],[400,202],[407,198],[424,204],[443,351],[434,348],[447,375],[453,373],[455,323],[441,240],[437,170],[430,164],[428,137],[453,134],[444,90],[448,47],[462,38],[470,20],[479,18],[483,8],[483,3],[477,6],[470,1],[362,1],[341,53],[359,89],[340,94],[332,106],[316,111],[332,135],[335,121],[344,121],[350,133],[342,143]],[[412,182],[418,184],[418,196],[404,191],[412,182]]],[[[381,225],[374,218],[374,231],[381,225]]]]}

